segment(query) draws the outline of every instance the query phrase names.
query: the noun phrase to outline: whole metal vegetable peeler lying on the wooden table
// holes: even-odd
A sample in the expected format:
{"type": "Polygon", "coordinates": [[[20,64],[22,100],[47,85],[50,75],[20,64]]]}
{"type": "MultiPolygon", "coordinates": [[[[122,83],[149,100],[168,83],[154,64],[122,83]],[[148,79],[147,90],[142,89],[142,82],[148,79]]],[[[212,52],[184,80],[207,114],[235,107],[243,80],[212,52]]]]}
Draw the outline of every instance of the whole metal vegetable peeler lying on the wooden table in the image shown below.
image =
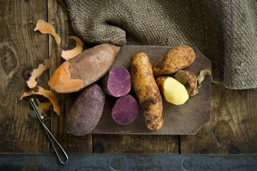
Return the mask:
{"type": "Polygon", "coordinates": [[[47,133],[47,137],[48,137],[49,141],[51,142],[51,145],[53,146],[53,149],[55,150],[58,159],[60,160],[60,163],[62,163],[62,164],[68,163],[68,161],[69,161],[68,155],[66,154],[66,152],[64,151],[62,146],[59,144],[59,142],[56,140],[56,138],[53,137],[53,135],[51,134],[51,131],[45,125],[45,120],[51,119],[51,117],[48,117],[47,115],[42,115],[42,113],[40,113],[40,111],[38,109],[38,106],[40,105],[40,101],[38,100],[38,98],[36,96],[29,98],[29,102],[30,102],[30,104],[32,104],[32,107],[34,109],[34,111],[30,112],[29,115],[32,117],[38,117],[40,123],[42,124],[42,127],[45,129],[45,133],[47,133]],[[54,141],[52,141],[52,139],[54,141]],[[59,146],[60,150],[62,151],[64,158],[65,158],[64,160],[61,159],[58,151],[56,150],[56,146],[54,143],[56,143],[59,146]]]}

